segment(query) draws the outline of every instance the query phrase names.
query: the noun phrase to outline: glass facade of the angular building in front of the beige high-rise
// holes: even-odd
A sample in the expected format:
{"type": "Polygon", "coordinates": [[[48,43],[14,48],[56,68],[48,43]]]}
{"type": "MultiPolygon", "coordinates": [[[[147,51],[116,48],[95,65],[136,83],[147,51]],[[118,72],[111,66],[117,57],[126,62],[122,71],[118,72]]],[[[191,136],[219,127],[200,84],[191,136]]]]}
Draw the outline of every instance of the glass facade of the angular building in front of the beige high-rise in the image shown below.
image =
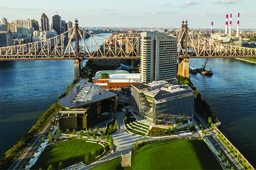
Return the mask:
{"type": "Polygon", "coordinates": [[[182,125],[192,117],[194,94],[170,97],[162,100],[153,99],[154,95],[143,90],[131,88],[131,108],[143,119],[156,125],[182,125]]]}

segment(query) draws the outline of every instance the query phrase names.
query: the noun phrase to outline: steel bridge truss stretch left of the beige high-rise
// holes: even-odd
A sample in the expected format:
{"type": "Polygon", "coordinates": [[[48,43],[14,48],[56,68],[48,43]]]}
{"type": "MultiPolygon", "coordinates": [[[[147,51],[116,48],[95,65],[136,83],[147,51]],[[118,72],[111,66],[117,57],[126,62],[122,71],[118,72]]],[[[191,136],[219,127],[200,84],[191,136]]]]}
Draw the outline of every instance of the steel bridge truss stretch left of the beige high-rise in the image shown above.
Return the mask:
{"type": "Polygon", "coordinates": [[[140,58],[139,40],[139,37],[100,37],[75,26],[48,40],[1,47],[0,60],[134,59],[140,58]],[[68,34],[68,40],[65,34],[68,34]],[[74,39],[79,41],[78,37],[82,44],[76,48],[72,42],[74,39]],[[89,44],[85,38],[90,39],[89,44]],[[102,44],[99,44],[99,38],[103,39],[102,44]]]}

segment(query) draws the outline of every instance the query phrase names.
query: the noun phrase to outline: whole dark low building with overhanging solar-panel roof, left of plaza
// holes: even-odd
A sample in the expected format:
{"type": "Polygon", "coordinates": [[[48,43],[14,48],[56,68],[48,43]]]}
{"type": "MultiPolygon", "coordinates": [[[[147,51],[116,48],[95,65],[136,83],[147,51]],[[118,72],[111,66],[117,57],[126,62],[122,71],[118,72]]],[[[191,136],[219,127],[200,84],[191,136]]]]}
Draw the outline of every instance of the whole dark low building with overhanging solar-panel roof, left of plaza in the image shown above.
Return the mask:
{"type": "Polygon", "coordinates": [[[65,109],[60,111],[59,129],[87,129],[102,122],[116,111],[117,94],[80,79],[68,95],[58,103],[65,109]]]}

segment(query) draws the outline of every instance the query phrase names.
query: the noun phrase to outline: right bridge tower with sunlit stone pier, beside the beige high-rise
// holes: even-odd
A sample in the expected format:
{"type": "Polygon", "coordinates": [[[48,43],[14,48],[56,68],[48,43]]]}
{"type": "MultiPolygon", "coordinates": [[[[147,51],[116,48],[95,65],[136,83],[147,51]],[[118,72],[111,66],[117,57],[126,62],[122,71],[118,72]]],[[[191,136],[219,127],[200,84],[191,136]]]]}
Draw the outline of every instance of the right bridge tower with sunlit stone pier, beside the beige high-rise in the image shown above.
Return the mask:
{"type": "Polygon", "coordinates": [[[185,37],[183,34],[182,41],[185,38],[185,45],[184,42],[181,42],[182,48],[185,48],[185,58],[184,59],[179,59],[179,64],[178,64],[178,75],[189,78],[189,59],[188,59],[188,22],[186,20],[184,24],[184,20],[182,21],[182,28],[185,31],[185,37]]]}

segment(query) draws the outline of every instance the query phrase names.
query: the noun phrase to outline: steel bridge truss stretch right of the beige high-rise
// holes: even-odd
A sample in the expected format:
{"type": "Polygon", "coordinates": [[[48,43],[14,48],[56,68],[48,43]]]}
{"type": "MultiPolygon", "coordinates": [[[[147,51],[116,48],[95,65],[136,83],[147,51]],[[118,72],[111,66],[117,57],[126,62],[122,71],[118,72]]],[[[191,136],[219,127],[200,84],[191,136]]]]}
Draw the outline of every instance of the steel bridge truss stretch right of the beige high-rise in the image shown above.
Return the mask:
{"type": "MultiPolygon", "coordinates": [[[[185,32],[181,27],[171,33],[177,37],[177,58],[185,58],[185,32]]],[[[255,58],[256,48],[237,47],[213,39],[202,37],[190,28],[187,28],[188,58],[255,58]]]]}

